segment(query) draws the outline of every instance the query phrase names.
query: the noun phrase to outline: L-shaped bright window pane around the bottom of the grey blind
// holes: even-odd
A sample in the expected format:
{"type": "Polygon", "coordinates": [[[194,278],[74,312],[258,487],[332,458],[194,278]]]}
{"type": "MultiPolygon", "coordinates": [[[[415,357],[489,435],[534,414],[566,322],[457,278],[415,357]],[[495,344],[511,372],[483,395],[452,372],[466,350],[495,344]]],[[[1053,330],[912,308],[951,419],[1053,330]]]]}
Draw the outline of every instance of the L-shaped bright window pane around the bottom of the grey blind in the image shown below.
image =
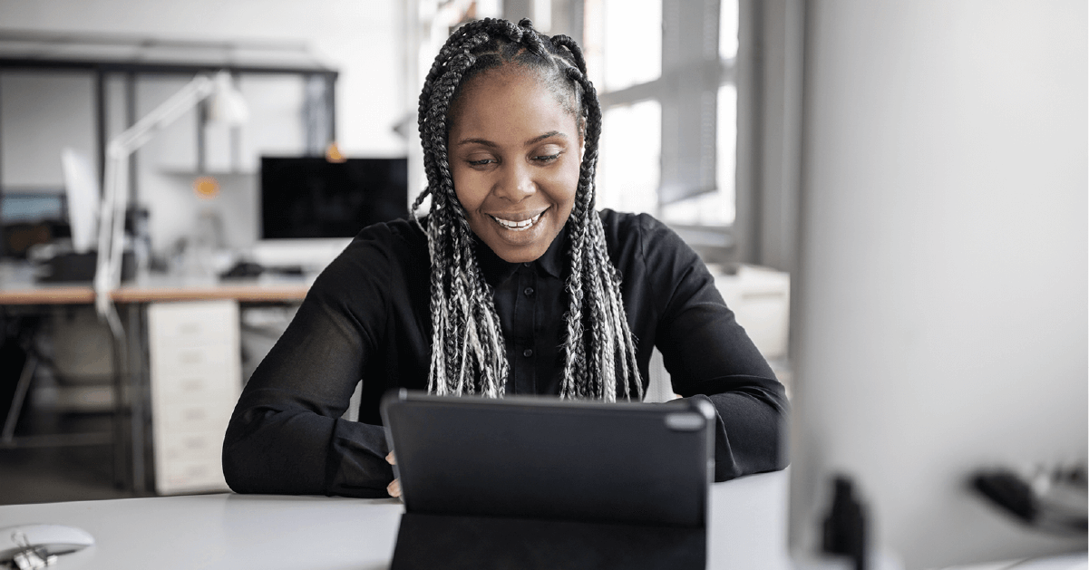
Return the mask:
{"type": "Polygon", "coordinates": [[[715,191],[694,196],[662,208],[662,220],[684,225],[730,225],[736,215],[737,89],[719,88],[719,124],[715,139],[715,191]]]}

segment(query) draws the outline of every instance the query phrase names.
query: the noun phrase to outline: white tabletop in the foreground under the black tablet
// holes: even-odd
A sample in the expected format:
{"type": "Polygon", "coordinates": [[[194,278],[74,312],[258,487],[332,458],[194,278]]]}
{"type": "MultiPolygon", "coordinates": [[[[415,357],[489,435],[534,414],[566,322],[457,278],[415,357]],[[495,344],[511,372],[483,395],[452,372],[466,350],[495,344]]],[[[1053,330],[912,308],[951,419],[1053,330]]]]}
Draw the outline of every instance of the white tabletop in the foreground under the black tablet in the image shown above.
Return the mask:
{"type": "MultiPolygon", "coordinates": [[[[786,570],[784,472],[717,483],[708,568],[786,570]]],[[[0,507],[0,528],[78,526],[96,545],[74,569],[354,569],[389,567],[404,507],[395,499],[196,495],[0,507]]]]}

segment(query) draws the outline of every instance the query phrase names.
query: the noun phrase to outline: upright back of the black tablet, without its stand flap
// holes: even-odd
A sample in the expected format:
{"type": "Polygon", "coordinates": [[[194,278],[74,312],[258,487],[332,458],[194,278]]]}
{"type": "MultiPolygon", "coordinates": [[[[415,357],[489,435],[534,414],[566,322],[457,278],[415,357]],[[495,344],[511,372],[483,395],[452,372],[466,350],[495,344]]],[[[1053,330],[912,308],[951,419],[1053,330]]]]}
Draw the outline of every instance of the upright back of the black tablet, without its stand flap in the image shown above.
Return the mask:
{"type": "Polygon", "coordinates": [[[409,513],[703,528],[706,401],[604,404],[393,391],[387,438],[409,513]]]}

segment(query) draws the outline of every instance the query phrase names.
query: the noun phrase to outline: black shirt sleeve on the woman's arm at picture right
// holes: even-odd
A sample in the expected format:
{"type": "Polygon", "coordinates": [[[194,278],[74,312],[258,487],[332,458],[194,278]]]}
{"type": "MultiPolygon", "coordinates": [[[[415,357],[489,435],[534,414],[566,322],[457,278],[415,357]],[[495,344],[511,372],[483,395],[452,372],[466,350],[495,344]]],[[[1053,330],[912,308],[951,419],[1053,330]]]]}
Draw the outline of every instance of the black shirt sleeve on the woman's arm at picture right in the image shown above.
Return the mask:
{"type": "Polygon", "coordinates": [[[638,224],[641,239],[628,240],[633,251],[619,256],[640,259],[644,267],[627,262],[631,277],[643,277],[625,283],[633,300],[628,317],[636,323],[633,330],[645,335],[640,342],[652,342],[662,352],[673,391],[708,398],[714,406],[715,481],[783,469],[787,400],[782,384],[696,252],[648,215],[632,223],[638,224]]]}

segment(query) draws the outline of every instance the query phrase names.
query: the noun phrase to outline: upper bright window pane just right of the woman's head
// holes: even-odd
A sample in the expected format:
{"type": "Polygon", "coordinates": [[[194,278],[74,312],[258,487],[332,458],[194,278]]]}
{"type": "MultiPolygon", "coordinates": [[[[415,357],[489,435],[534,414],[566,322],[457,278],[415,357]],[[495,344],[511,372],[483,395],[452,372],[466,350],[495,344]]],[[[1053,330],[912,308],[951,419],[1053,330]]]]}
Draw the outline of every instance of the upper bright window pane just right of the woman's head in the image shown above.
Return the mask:
{"type": "Polygon", "coordinates": [[[661,76],[661,0],[604,0],[602,12],[604,90],[661,76]]]}

